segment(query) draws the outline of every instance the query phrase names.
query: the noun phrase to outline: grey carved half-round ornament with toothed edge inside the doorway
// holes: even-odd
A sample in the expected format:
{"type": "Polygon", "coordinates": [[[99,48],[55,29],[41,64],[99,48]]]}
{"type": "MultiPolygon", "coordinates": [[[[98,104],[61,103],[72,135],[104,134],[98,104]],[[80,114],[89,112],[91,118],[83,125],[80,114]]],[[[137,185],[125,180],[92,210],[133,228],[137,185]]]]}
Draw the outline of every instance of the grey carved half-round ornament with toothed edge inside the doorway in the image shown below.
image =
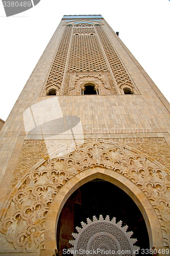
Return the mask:
{"type": "Polygon", "coordinates": [[[75,240],[69,241],[74,246],[69,248],[70,252],[74,252],[73,255],[80,255],[84,250],[87,253],[93,251],[96,255],[106,253],[118,256],[118,251],[128,250],[132,256],[135,255],[135,250],[140,249],[134,245],[137,239],[131,238],[133,232],[127,232],[128,226],[122,226],[122,221],[116,222],[115,218],[110,221],[109,216],[105,219],[102,215],[99,219],[93,216],[92,221],[87,218],[87,223],[82,221],[81,226],[82,228],[76,227],[78,233],[72,233],[75,240]]]}

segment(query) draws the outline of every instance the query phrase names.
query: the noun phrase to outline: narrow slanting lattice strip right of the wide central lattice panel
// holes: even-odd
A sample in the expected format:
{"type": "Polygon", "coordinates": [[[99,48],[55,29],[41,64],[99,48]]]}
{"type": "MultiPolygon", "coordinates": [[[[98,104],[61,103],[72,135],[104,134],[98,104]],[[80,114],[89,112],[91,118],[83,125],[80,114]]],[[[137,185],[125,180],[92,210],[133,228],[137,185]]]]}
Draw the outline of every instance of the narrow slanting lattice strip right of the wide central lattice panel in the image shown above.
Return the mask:
{"type": "Polygon", "coordinates": [[[118,87],[121,89],[128,86],[131,89],[133,89],[134,87],[132,81],[130,80],[125,68],[122,65],[122,62],[119,60],[116,52],[114,51],[113,46],[107,38],[104,30],[101,26],[95,26],[95,28],[100,37],[102,46],[106,53],[107,59],[109,61],[110,67],[118,84],[118,87]]]}

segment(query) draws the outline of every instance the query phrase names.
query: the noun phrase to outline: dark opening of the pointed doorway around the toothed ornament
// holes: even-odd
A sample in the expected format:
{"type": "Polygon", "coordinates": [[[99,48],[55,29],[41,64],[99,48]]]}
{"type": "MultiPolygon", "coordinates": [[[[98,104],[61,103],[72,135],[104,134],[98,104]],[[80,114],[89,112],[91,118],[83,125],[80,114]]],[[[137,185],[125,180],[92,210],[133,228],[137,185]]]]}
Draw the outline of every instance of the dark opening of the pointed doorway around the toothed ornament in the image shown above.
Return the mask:
{"type": "MultiPolygon", "coordinates": [[[[71,248],[69,240],[71,233],[78,233],[76,227],[82,227],[81,222],[87,224],[87,218],[93,220],[116,218],[116,223],[122,221],[127,225],[127,232],[132,231],[132,239],[137,239],[135,246],[149,249],[149,236],[144,218],[134,201],[116,185],[102,180],[91,180],[79,187],[65,202],[57,225],[58,255],[71,248]]],[[[103,242],[101,242],[103,243],[103,242]]],[[[106,239],[106,243],[109,241],[106,239]]],[[[106,247],[107,248],[107,247],[106,247]]],[[[140,251],[138,251],[138,255],[140,251]]]]}

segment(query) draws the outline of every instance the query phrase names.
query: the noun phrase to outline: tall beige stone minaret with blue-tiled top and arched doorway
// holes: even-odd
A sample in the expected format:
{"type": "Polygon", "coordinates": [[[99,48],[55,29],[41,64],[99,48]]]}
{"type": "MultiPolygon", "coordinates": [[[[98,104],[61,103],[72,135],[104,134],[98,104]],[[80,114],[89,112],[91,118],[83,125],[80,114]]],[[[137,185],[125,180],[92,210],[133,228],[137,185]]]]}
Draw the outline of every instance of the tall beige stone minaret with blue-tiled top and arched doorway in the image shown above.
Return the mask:
{"type": "Polygon", "coordinates": [[[0,133],[0,254],[169,255],[169,109],[101,15],[64,15],[0,133]]]}

